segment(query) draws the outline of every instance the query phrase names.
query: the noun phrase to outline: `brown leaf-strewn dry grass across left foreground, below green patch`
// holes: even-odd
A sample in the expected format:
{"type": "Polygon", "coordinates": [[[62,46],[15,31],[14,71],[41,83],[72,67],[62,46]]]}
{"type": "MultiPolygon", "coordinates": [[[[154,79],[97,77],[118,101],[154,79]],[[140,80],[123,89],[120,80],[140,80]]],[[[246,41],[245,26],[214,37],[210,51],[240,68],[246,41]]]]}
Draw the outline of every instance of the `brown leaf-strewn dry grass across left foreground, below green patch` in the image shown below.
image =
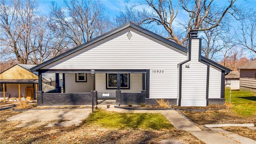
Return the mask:
{"type": "Polygon", "coordinates": [[[20,122],[6,121],[6,118],[19,113],[21,112],[1,111],[0,144],[158,144],[165,139],[178,139],[185,144],[203,144],[192,134],[175,128],[120,130],[91,125],[86,120],[80,126],[16,128],[20,122]]]}

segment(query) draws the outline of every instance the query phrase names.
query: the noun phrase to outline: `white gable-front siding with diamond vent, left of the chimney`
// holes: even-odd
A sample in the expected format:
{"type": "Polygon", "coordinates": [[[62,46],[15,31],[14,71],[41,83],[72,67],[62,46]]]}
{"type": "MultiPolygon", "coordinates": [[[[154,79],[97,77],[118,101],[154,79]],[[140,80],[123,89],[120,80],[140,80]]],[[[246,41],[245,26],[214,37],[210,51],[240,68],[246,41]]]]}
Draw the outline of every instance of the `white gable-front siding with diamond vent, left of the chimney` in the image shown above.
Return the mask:
{"type": "MultiPolygon", "coordinates": [[[[150,98],[177,97],[177,64],[186,60],[186,53],[132,28],[85,49],[42,69],[150,69],[150,98]],[[126,37],[129,31],[133,35],[130,42],[126,37]],[[161,70],[164,73],[152,73],[152,70],[161,70]]],[[[104,75],[104,79],[105,77],[104,75]]],[[[131,80],[130,85],[132,83],[131,80]]],[[[98,87],[104,87],[105,90],[105,85],[105,82],[98,83],[96,77],[96,90],[98,87]]],[[[138,89],[132,90],[121,91],[132,93],[138,89]]]]}

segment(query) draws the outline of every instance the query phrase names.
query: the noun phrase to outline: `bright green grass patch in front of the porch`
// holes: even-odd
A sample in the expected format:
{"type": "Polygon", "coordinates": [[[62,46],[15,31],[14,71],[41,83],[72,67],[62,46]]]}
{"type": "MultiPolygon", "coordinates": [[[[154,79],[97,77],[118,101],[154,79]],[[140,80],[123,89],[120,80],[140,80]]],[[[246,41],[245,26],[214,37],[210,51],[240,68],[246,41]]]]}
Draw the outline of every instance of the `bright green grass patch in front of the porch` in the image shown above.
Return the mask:
{"type": "Polygon", "coordinates": [[[174,128],[170,122],[158,113],[118,113],[96,110],[87,118],[90,125],[118,129],[168,130],[174,128]]]}

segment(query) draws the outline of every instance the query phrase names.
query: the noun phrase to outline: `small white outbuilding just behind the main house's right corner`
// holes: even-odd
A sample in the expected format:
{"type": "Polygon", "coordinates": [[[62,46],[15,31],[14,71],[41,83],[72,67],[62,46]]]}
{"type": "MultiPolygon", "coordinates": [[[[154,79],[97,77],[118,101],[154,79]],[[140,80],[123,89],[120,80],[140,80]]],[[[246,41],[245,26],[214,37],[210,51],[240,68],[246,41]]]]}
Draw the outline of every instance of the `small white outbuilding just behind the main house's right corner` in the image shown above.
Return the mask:
{"type": "Polygon", "coordinates": [[[226,87],[230,87],[231,90],[239,90],[239,77],[240,73],[238,71],[230,71],[230,73],[225,76],[226,87]]]}

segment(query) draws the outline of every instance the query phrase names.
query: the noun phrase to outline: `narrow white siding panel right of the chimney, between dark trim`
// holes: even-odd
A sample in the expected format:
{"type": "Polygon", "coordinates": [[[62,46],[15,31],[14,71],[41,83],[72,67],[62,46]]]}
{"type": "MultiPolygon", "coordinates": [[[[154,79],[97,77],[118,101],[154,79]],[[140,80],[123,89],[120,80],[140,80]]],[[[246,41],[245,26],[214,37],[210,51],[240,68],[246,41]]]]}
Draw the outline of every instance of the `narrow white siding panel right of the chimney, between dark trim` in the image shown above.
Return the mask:
{"type": "MultiPolygon", "coordinates": [[[[239,87],[239,85],[238,85],[239,87]]],[[[209,76],[209,99],[220,98],[221,89],[221,71],[210,67],[209,76]]]]}

